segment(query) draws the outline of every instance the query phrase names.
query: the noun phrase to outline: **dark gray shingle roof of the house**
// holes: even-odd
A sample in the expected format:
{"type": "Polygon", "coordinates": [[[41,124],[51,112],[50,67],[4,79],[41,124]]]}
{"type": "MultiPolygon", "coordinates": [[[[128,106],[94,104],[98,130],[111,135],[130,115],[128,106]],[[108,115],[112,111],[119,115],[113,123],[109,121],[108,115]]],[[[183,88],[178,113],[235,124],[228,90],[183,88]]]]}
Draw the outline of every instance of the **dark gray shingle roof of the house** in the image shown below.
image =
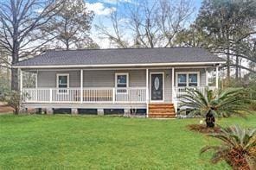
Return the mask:
{"type": "Polygon", "coordinates": [[[50,50],[16,66],[81,66],[215,62],[225,60],[200,47],[50,50]]]}

